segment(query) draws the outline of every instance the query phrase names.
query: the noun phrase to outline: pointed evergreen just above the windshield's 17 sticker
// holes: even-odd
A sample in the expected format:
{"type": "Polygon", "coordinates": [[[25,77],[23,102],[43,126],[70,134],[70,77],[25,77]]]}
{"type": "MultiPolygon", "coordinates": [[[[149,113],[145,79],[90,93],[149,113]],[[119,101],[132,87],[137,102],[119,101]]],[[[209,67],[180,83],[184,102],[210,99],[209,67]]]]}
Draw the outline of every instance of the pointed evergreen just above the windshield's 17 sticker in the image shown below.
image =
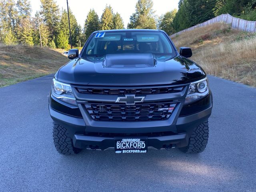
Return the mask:
{"type": "Polygon", "coordinates": [[[100,20],[94,9],[90,9],[84,22],[84,35],[87,40],[92,32],[100,30],[100,20]]]}

